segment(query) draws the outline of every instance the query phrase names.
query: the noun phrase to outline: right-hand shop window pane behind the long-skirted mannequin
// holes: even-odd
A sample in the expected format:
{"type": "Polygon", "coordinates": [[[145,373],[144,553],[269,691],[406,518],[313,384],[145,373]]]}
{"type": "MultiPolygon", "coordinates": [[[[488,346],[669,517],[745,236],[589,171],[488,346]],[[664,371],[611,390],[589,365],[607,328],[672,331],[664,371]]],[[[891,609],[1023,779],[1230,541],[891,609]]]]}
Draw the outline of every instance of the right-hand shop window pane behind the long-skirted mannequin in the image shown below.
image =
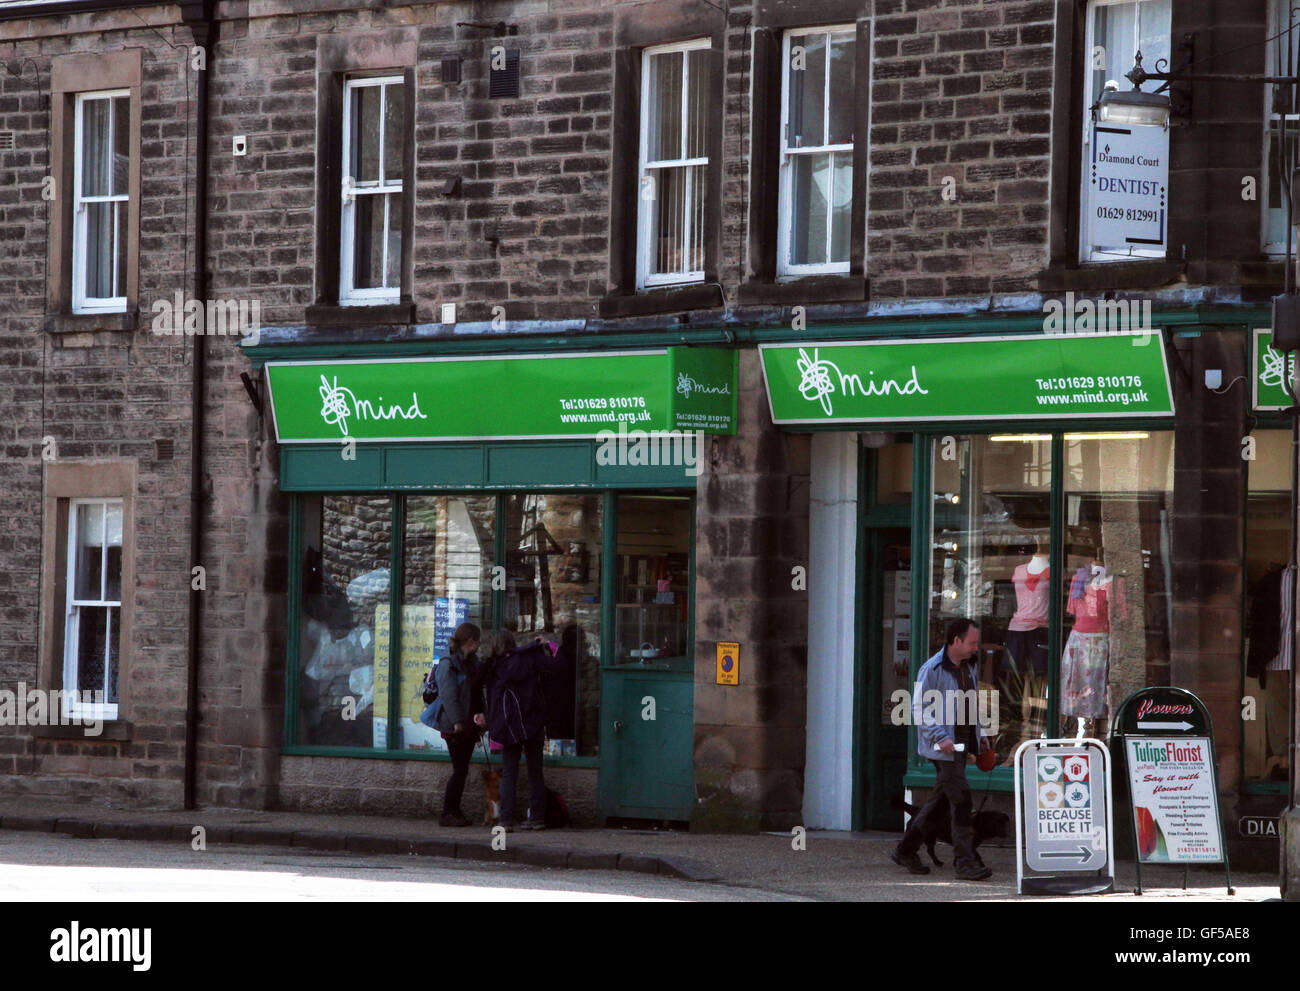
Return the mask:
{"type": "Polygon", "coordinates": [[[1061,735],[1104,739],[1134,691],[1169,684],[1174,434],[1066,434],[1061,735]]]}

